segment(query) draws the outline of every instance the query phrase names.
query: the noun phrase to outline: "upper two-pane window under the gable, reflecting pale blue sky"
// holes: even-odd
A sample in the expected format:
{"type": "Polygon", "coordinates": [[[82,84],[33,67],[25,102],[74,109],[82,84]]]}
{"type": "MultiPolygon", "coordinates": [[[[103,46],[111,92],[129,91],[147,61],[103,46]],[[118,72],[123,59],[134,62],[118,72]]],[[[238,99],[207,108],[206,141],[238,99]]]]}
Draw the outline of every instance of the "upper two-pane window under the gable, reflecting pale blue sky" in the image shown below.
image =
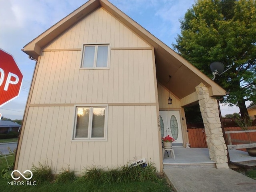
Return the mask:
{"type": "Polygon", "coordinates": [[[109,44],[84,45],[82,68],[109,68],[109,44]]]}

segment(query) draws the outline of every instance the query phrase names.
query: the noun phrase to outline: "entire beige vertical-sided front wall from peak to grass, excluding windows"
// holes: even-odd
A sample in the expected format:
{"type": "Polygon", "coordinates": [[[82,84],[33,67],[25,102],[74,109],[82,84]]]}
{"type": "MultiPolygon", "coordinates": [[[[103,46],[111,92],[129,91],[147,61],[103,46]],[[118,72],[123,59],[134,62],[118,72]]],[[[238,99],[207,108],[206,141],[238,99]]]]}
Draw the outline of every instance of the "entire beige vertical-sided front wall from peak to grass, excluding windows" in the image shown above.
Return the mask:
{"type": "Polygon", "coordinates": [[[47,160],[57,173],[69,165],[79,174],[88,166],[116,167],[146,158],[159,171],[152,50],[142,47],[151,48],[102,8],[46,46],[23,127],[18,170],[47,160]],[[120,48],[110,51],[110,69],[80,70],[81,50],[70,49],[90,43],[120,48]],[[85,103],[120,103],[108,108],[107,142],[72,141],[75,110],[71,104],[85,103]]]}

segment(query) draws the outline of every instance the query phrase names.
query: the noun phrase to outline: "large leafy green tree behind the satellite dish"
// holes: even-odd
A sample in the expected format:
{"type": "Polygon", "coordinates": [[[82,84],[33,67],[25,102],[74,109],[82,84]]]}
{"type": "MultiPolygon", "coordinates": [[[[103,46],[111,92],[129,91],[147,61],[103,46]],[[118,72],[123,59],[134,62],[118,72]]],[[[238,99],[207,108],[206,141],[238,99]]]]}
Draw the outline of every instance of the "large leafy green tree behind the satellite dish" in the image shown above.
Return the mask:
{"type": "Polygon", "coordinates": [[[256,102],[256,0],[198,0],[180,24],[174,50],[210,78],[210,63],[231,65],[215,79],[228,92],[222,103],[248,117],[245,102],[256,102]]]}

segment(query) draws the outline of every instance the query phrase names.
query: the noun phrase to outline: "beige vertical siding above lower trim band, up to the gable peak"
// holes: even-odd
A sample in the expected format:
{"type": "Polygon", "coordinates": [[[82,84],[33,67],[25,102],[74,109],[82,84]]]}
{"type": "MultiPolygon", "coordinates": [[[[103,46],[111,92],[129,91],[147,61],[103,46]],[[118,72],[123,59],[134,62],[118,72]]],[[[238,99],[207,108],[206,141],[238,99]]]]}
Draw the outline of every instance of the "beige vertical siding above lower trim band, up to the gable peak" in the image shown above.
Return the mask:
{"type": "MultiPolygon", "coordinates": [[[[102,42],[117,48],[150,47],[100,8],[45,50],[82,49],[83,44],[102,42]]],[[[79,70],[81,60],[81,51],[42,52],[30,102],[156,102],[151,50],[111,50],[110,70],[79,70]]]]}

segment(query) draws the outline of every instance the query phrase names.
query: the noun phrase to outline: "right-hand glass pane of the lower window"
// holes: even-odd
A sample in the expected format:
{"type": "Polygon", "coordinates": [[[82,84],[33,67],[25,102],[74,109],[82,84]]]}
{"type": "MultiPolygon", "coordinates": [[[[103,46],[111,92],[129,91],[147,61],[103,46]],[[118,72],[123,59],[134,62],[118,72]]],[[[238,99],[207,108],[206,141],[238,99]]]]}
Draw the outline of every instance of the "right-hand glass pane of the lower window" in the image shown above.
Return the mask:
{"type": "Polygon", "coordinates": [[[94,107],[92,117],[92,137],[104,137],[105,107],[94,107]]]}

